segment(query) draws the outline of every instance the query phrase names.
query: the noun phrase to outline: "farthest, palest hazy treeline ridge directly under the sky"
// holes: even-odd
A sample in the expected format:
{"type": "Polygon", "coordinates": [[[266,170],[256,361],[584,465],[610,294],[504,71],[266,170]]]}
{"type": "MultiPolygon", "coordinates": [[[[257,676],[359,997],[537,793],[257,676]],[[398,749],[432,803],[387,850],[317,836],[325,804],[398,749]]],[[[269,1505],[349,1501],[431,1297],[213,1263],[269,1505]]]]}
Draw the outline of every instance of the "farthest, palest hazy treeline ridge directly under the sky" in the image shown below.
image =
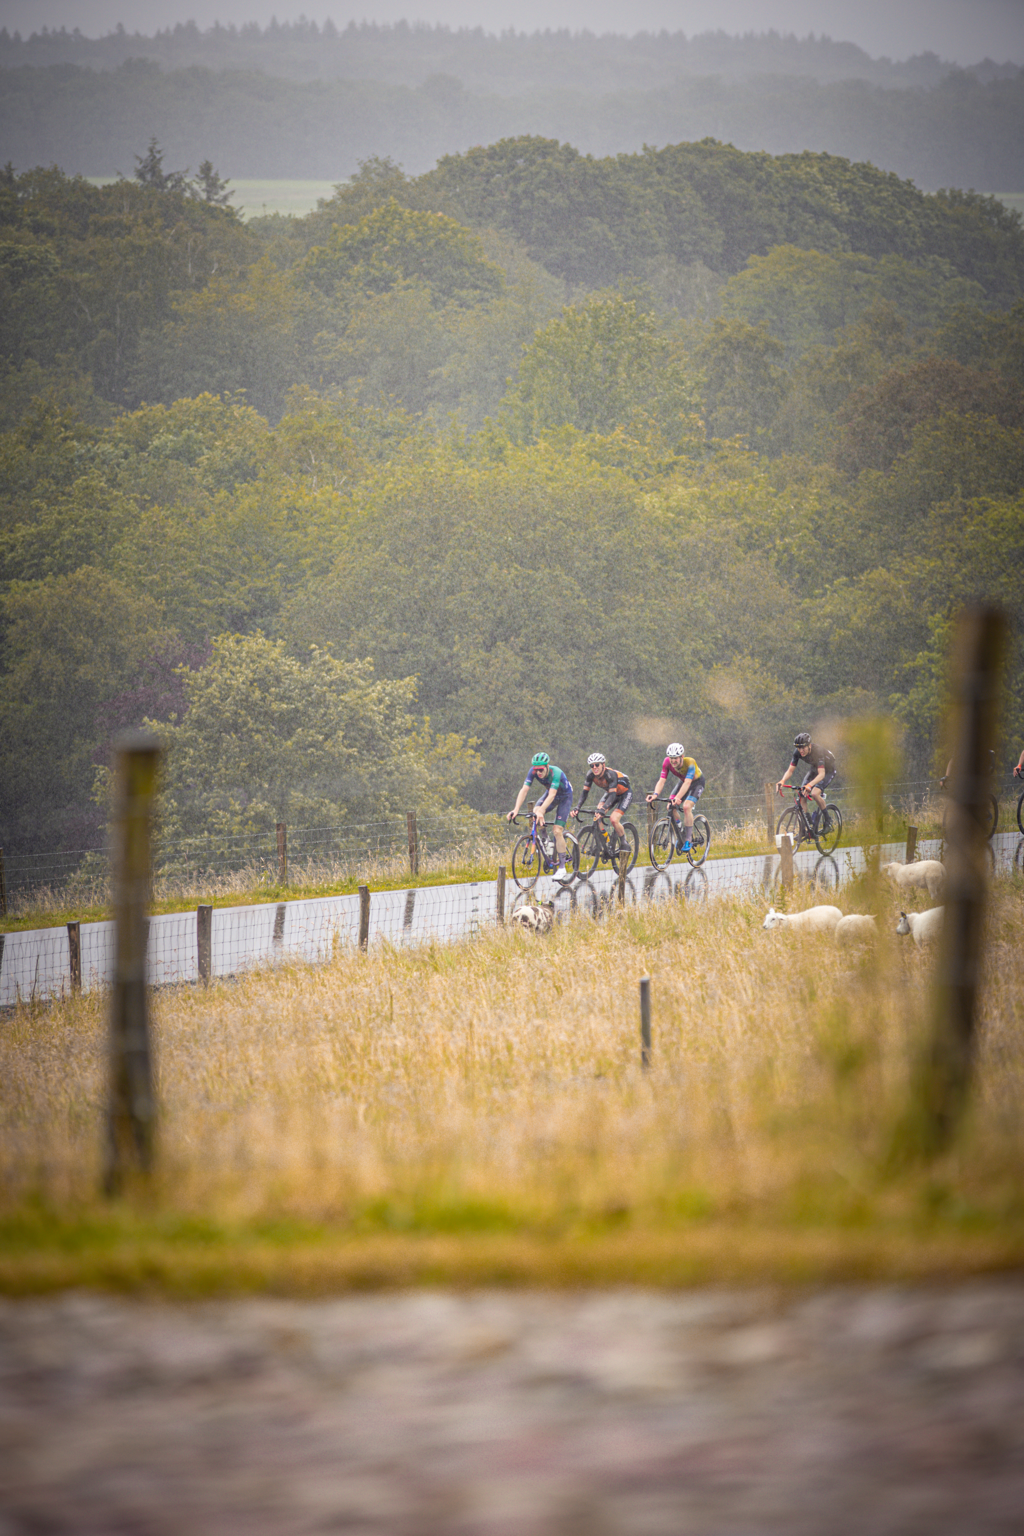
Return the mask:
{"type": "MultiPolygon", "coordinates": [[[[955,65],[935,54],[892,61],[872,58],[855,43],[827,37],[726,32],[639,32],[634,37],[591,32],[502,32],[484,28],[453,32],[447,26],[398,22],[272,22],[259,28],[180,23],[144,37],[118,26],[106,37],[77,29],[34,32],[21,38],[0,31],[0,66],[88,65],[117,69],[129,58],[155,58],[164,69],[253,69],[290,80],[381,80],[418,86],[431,74],[456,75],[468,91],[517,95],[527,91],[649,91],[680,75],[806,75],[823,83],[866,80],[878,86],[935,86],[955,65]]],[[[984,60],[970,69],[978,80],[1012,78],[1013,65],[984,60]]]]}

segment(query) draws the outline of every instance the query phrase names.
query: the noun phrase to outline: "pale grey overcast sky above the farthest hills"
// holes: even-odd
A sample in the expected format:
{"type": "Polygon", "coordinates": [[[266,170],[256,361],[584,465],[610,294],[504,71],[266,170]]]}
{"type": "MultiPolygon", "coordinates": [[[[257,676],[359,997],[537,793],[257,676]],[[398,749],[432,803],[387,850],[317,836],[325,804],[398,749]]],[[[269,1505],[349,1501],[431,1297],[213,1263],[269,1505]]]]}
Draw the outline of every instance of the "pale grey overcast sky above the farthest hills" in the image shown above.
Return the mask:
{"type": "Polygon", "coordinates": [[[98,37],[123,22],[154,32],[175,22],[209,26],[327,15],[348,20],[442,22],[447,26],[588,28],[640,32],[668,28],[688,35],[726,32],[826,34],[860,43],[869,54],[906,58],[932,51],[958,63],[990,57],[1024,63],[1024,0],[0,0],[0,22],[28,35],[41,26],[78,26],[98,37]]]}

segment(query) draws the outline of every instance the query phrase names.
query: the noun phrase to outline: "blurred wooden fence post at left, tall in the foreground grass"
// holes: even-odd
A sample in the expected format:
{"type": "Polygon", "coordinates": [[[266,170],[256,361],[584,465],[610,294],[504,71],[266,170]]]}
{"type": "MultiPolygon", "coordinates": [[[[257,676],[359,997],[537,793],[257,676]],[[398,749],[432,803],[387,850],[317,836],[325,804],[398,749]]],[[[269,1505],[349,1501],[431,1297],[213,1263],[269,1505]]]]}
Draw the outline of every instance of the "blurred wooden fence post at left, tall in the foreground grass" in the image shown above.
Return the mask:
{"type": "Polygon", "coordinates": [[[117,745],[114,822],[115,954],[111,991],[111,1066],[103,1187],[121,1189],[129,1167],[149,1172],[154,1160],[154,1078],[146,994],[146,897],[150,885],[149,828],[160,746],[134,733],[117,745]]]}

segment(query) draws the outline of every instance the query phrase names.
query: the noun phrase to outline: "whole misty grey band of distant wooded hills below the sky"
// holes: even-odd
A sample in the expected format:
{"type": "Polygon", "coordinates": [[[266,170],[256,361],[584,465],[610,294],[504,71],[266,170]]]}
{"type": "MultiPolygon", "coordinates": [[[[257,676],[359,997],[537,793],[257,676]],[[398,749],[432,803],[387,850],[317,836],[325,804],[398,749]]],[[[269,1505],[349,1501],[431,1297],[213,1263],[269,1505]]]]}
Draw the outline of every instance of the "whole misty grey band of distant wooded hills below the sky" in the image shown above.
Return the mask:
{"type": "Polygon", "coordinates": [[[444,28],[180,26],[91,41],[0,32],[0,161],[129,174],[155,134],[177,163],[341,180],[387,157],[540,134],[594,155],[714,137],[812,146],[918,186],[1019,192],[1024,72],[872,60],[827,38],[488,37],[444,28]]]}

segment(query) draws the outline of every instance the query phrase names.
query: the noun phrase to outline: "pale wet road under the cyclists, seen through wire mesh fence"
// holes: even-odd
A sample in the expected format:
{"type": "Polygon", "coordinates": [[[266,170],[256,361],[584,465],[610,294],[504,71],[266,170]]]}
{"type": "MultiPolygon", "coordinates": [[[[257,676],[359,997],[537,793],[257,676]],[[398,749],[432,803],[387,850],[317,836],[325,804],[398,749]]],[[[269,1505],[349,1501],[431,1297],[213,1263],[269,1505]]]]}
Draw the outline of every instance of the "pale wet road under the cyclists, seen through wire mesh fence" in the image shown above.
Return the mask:
{"type": "MultiPolygon", "coordinates": [[[[883,843],[878,857],[903,860],[906,845],[883,843]]],[[[1024,866],[1024,839],[998,833],[990,843],[992,868],[1009,872],[1024,866]]],[[[923,839],[920,859],[938,859],[943,843],[923,839]]],[[[794,879],[824,895],[867,868],[866,848],[840,848],[821,856],[815,849],[792,856],[794,879]]],[[[542,877],[534,891],[507,886],[504,912],[499,912],[496,880],[470,880],[459,885],[408,886],[372,891],[361,934],[361,899],[353,895],[310,897],[292,902],[266,902],[189,912],[169,912],[149,919],[147,975],[154,986],[197,983],[232,977],[275,962],[322,963],[341,952],[367,945],[450,943],[468,940],[504,917],[511,920],[525,903],[551,902],[556,922],[573,914],[600,919],[619,905],[619,882],[613,869],[599,869],[588,880],[562,888],[542,877]],[[209,914],[209,938],[201,911],[209,914]]],[[[686,862],[666,869],[637,866],[625,880],[623,902],[706,902],[722,895],[743,895],[771,903],[781,888],[781,856],[749,854],[708,860],[691,868],[686,862]]],[[[72,991],[92,991],[109,985],[114,975],[114,922],[74,923],[68,928],[41,928],[0,935],[0,1008],[18,1001],[68,997],[72,991]],[[75,957],[77,948],[77,957],[75,957]]]]}

